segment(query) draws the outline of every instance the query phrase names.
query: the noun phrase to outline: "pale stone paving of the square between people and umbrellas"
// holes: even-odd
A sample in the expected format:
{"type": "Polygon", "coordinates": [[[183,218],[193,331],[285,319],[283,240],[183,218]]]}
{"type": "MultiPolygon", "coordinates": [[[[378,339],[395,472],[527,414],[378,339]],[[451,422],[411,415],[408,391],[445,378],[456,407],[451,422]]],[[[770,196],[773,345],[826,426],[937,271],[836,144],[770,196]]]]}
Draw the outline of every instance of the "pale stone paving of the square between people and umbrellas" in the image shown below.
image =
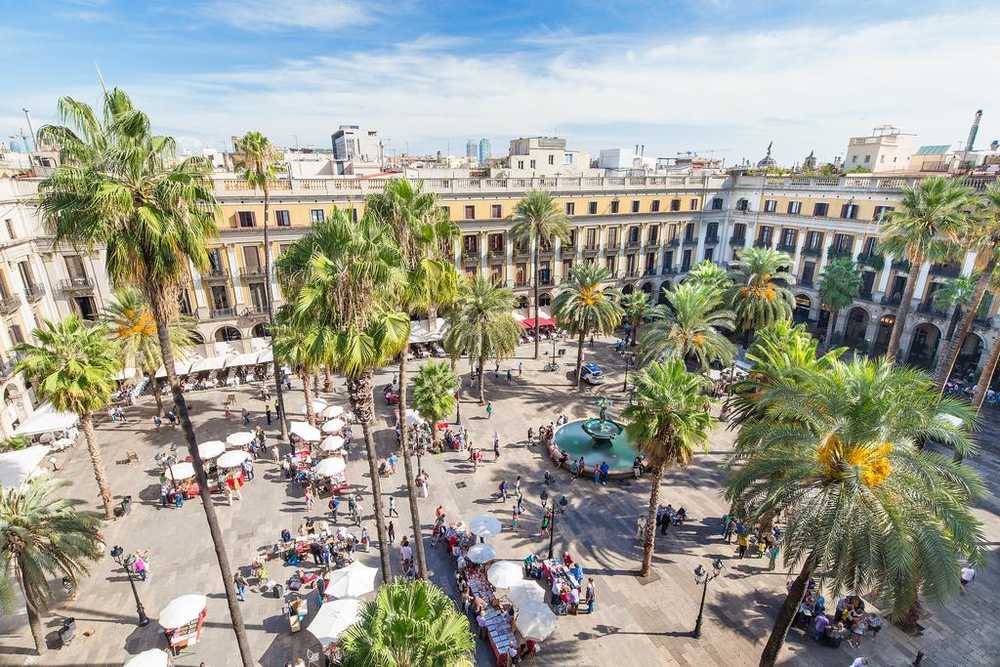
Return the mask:
{"type": "MultiPolygon", "coordinates": [[[[543,346],[543,353],[547,347],[543,346]]],[[[565,347],[568,348],[565,358],[575,358],[573,344],[565,347]]],[[[432,522],[438,504],[444,506],[449,519],[468,520],[480,513],[495,514],[503,522],[504,532],[492,542],[501,558],[512,559],[547,549],[547,543],[538,535],[538,497],[543,486],[542,471],[549,464],[543,452],[526,446],[527,427],[537,429],[561,412],[570,418],[592,415],[596,412],[595,394],[619,399],[612,413],[623,403],[623,364],[608,341],[599,341],[595,348],[587,349],[588,359],[605,364],[609,370],[608,382],[581,392],[570,386],[568,372],[541,371],[544,354],[536,361],[527,346],[518,354],[507,365],[522,362],[524,376],[515,378],[513,385],[506,384],[503,375],[506,365],[499,380],[494,380],[492,374],[488,377],[488,397],[495,407],[492,419],[488,420],[483,409],[470,398],[471,392],[462,404],[463,422],[477,446],[488,448],[494,430],[501,434],[500,461],[487,462],[474,472],[459,454],[425,456],[423,465],[430,474],[430,497],[420,500],[425,527],[432,522]],[[501,479],[512,483],[518,475],[522,476],[528,512],[518,530],[513,531],[510,505],[493,501],[490,495],[501,479]]],[[[387,369],[378,377],[379,386],[390,378],[391,370],[387,369]]],[[[380,396],[378,390],[376,395],[380,396]]],[[[342,382],[336,383],[333,393],[324,393],[323,397],[346,404],[342,382]]],[[[194,393],[189,397],[198,433],[204,440],[224,438],[235,430],[243,430],[238,417],[228,420],[224,417],[223,398],[223,392],[194,393]]],[[[241,405],[254,413],[263,407],[249,397],[249,391],[240,392],[239,398],[241,405]]],[[[390,409],[382,401],[377,402],[381,416],[379,449],[381,455],[386,455],[394,442],[385,422],[390,409]]],[[[302,393],[293,391],[289,408],[293,419],[301,410],[302,393]]],[[[135,605],[126,578],[110,557],[104,557],[93,565],[76,599],[57,605],[46,618],[53,647],[57,644],[55,630],[63,616],[77,619],[76,640],[66,648],[35,658],[27,655],[31,639],[24,617],[0,617],[0,664],[121,665],[130,655],[163,646],[155,622],[159,610],[176,595],[188,592],[208,595],[208,621],[201,643],[178,657],[176,664],[204,663],[207,667],[237,664],[221,578],[198,501],[187,502],[179,510],[159,508],[153,456],[171,442],[180,444],[180,434],[170,427],[154,432],[148,403],[130,409],[127,414],[127,424],[101,424],[99,437],[116,497],[132,495],[136,505],[130,516],[108,525],[104,533],[109,545],[151,550],[152,576],[139,585],[139,590],[153,622],[146,628],[136,627],[135,605]],[[127,449],[139,453],[138,464],[116,464],[127,449]]],[[[260,419],[255,416],[255,421],[260,419]]],[[[269,436],[273,435],[271,429],[269,436]]],[[[683,505],[691,520],[683,527],[671,528],[666,537],[658,538],[654,574],[648,580],[639,580],[634,575],[641,558],[635,519],[644,511],[648,484],[644,480],[629,480],[602,487],[592,481],[574,482],[566,474],[556,473],[557,482],[550,494],[565,494],[569,500],[568,511],[557,520],[556,551],[568,550],[582,561],[586,573],[597,582],[598,605],[591,615],[560,617],[555,634],[542,644],[538,664],[617,667],[756,664],[790,577],[782,571],[767,572],[766,562],[758,559],[736,560],[734,547],[724,544],[719,536],[719,517],[726,508],[719,492],[724,473],[722,462],[731,442],[732,434],[718,428],[707,454],[697,456],[687,469],[671,471],[665,476],[662,502],[671,502],[675,507],[683,505]],[[708,567],[715,557],[723,558],[726,568],[709,587],[703,633],[696,640],[690,632],[701,589],[692,571],[699,563],[708,567]]],[[[61,469],[56,474],[73,481],[67,492],[86,499],[96,508],[96,486],[85,448],[78,445],[57,458],[61,469]]],[[[491,458],[492,455],[487,455],[488,460],[491,458]]],[[[976,508],[985,524],[990,557],[988,567],[979,572],[968,593],[945,608],[929,610],[924,619],[926,632],[919,638],[887,626],[876,642],[867,642],[860,650],[850,649],[846,644],[832,650],[804,640],[802,633],[793,629],[782,654],[782,664],[848,665],[855,656],[865,655],[871,658],[872,665],[908,665],[917,650],[923,650],[927,654],[925,666],[1000,665],[997,657],[1000,652],[996,648],[1000,645],[1000,630],[995,623],[1000,607],[991,595],[1000,589],[997,557],[1000,455],[995,449],[988,450],[973,465],[982,469],[992,491],[976,508]]],[[[367,463],[360,443],[352,449],[348,473],[355,488],[366,494],[367,463]]],[[[403,486],[401,470],[383,481],[383,489],[397,497],[400,511],[400,518],[394,519],[397,537],[404,534],[404,528],[409,528],[403,486]]],[[[370,494],[366,495],[364,506],[369,512],[366,523],[374,535],[370,494]]],[[[233,565],[246,565],[259,547],[276,539],[282,528],[294,531],[307,515],[318,515],[321,508],[325,508],[325,503],[318,504],[315,512],[306,512],[301,493],[281,479],[276,466],[258,463],[257,479],[244,489],[242,501],[229,507],[223,500],[217,500],[233,565]]],[[[454,593],[453,570],[445,553],[431,546],[429,540],[427,553],[433,579],[454,593]]],[[[378,565],[374,551],[363,555],[362,560],[378,565]]],[[[398,551],[393,553],[393,562],[398,568],[398,551]]],[[[290,573],[290,569],[280,565],[270,568],[275,579],[290,573]]],[[[250,592],[242,608],[251,648],[259,664],[280,667],[295,656],[304,656],[311,646],[307,632],[289,633],[280,600],[250,592]]],[[[314,612],[314,604],[310,604],[310,618],[314,612]]],[[[491,664],[491,658],[480,642],[477,664],[491,664]]]]}

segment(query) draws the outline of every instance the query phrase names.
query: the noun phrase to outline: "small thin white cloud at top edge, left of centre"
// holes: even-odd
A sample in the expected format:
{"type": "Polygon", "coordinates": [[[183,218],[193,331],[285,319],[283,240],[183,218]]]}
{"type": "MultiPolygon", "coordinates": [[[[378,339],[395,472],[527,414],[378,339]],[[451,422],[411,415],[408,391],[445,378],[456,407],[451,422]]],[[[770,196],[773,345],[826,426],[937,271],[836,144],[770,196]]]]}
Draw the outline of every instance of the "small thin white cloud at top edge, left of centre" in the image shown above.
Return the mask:
{"type": "Polygon", "coordinates": [[[253,32],[341,30],[370,22],[371,9],[357,0],[211,0],[204,8],[212,19],[253,32]]]}

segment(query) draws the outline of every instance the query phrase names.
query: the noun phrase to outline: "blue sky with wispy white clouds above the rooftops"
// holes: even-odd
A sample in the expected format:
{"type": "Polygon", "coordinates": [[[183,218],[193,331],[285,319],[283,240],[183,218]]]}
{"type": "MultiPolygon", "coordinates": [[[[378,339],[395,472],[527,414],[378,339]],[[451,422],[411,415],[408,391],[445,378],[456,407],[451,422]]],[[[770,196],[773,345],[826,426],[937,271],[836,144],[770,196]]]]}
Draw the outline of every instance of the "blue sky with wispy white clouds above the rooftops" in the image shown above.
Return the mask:
{"type": "Polygon", "coordinates": [[[95,99],[94,64],[183,146],[261,129],[329,145],[340,123],[389,149],[464,150],[558,133],[648,156],[767,143],[785,162],[893,123],[918,143],[1000,136],[1000,5],[618,0],[0,0],[0,138],[95,99]],[[25,7],[30,9],[25,9],[25,7]]]}

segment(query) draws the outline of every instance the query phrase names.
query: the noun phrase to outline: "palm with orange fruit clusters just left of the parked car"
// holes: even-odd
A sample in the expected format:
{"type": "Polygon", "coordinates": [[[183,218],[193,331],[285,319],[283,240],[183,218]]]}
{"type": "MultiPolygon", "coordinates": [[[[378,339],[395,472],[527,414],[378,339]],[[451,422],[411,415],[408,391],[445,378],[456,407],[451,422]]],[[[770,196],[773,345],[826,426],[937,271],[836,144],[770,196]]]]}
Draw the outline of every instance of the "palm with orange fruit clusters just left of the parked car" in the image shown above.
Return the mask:
{"type": "Polygon", "coordinates": [[[579,264],[569,272],[562,291],[552,302],[552,314],[559,326],[576,334],[576,386],[580,387],[583,343],[592,333],[609,334],[621,324],[624,311],[616,291],[601,284],[610,280],[608,270],[596,264],[579,264]]]}

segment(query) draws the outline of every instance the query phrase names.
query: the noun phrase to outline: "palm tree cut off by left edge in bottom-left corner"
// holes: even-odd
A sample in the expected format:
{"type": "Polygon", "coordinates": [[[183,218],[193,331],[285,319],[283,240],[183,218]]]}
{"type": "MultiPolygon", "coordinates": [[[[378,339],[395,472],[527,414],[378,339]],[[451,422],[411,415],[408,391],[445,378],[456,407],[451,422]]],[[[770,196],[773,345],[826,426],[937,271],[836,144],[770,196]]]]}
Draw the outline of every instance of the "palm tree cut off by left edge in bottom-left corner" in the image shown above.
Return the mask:
{"type": "Polygon", "coordinates": [[[52,595],[49,580],[66,577],[75,585],[88,561],[101,554],[98,518],[77,510],[79,501],[57,497],[68,484],[42,476],[0,488],[0,599],[10,602],[7,587],[16,579],[37,655],[45,652],[42,613],[52,595]]]}

